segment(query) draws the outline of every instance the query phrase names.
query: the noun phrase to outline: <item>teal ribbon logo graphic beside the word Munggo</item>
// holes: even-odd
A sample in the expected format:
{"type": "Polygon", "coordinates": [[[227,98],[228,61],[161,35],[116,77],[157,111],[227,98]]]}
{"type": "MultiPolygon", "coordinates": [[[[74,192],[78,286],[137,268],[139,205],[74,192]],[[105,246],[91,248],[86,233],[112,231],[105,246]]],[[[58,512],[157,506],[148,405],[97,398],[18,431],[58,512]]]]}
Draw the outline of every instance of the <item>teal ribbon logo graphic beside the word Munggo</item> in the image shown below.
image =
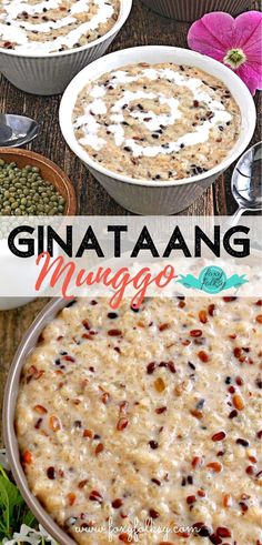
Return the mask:
{"type": "Polygon", "coordinates": [[[192,274],[188,274],[187,276],[181,274],[180,276],[178,282],[185,287],[202,290],[211,294],[220,293],[223,290],[230,290],[230,287],[240,287],[249,282],[245,274],[242,274],[241,276],[239,274],[233,274],[228,277],[223,269],[215,265],[203,269],[199,277],[195,277],[192,274]]]}

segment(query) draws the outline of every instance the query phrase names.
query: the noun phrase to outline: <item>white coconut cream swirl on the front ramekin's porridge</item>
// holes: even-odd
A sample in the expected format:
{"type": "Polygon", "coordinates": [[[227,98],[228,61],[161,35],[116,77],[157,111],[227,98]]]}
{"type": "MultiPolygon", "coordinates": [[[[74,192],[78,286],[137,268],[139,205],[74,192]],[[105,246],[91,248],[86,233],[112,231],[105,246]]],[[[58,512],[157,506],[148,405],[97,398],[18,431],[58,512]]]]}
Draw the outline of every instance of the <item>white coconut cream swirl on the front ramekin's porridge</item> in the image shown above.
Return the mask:
{"type": "Polygon", "coordinates": [[[198,78],[188,78],[183,73],[174,72],[172,69],[144,69],[139,75],[129,75],[124,70],[118,70],[111,73],[110,80],[107,83],[97,82],[90,91],[90,95],[93,101],[89,103],[85,108],[83,115],[80,115],[74,122],[74,129],[82,129],[84,137],[79,140],[82,145],[90,145],[94,150],[101,150],[107,145],[107,140],[99,137],[100,123],[99,117],[107,114],[111,121],[108,127],[108,131],[111,131],[114,135],[114,143],[117,147],[123,145],[129,148],[134,158],[139,157],[151,157],[154,158],[159,154],[171,154],[177,152],[182,147],[190,147],[206,142],[209,140],[210,131],[216,125],[224,124],[232,120],[230,112],[225,110],[222,102],[214,100],[210,92],[208,92],[208,87],[203,85],[203,81],[198,78]],[[165,97],[162,92],[150,92],[148,89],[129,91],[122,89],[121,98],[111,107],[108,111],[107,104],[103,97],[107,95],[108,89],[117,89],[127,83],[131,83],[141,79],[141,75],[147,78],[147,80],[155,81],[158,78],[161,80],[168,80],[175,85],[188,88],[193,95],[193,100],[203,102],[208,105],[212,115],[206,119],[203,123],[195,127],[192,132],[183,134],[175,141],[165,142],[164,144],[158,145],[143,145],[139,144],[134,139],[127,139],[124,131],[124,119],[125,113],[132,118],[139,120],[140,123],[144,124],[150,132],[161,134],[163,127],[173,125],[177,120],[182,118],[182,111],[180,109],[180,102],[175,98],[165,97]],[[203,89],[203,88],[206,89],[203,89]],[[169,108],[169,113],[155,114],[153,110],[145,111],[144,108],[138,107],[131,110],[130,107],[133,103],[138,103],[141,99],[158,101],[160,104],[167,104],[169,108]],[[160,131],[160,132],[158,132],[160,131]]]}

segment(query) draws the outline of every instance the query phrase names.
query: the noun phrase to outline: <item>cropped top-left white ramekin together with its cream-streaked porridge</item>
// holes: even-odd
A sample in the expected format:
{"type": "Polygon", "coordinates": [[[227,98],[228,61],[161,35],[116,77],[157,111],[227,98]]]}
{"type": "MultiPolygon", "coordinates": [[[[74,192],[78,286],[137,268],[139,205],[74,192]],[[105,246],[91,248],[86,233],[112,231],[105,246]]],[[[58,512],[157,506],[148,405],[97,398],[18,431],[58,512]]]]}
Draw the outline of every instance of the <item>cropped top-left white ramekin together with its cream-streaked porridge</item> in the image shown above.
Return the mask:
{"type": "Polygon", "coordinates": [[[32,94],[63,92],[103,55],[131,7],[132,0],[0,1],[1,72],[32,94]]]}

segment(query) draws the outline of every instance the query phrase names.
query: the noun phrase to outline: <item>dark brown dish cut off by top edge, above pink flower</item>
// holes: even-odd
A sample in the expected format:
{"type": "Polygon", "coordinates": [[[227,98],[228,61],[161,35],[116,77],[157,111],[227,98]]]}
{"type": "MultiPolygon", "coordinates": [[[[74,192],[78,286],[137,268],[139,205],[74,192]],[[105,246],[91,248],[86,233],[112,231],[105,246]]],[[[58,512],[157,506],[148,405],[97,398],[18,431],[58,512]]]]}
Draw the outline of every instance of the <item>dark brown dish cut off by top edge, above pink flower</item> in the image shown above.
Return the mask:
{"type": "Polygon", "coordinates": [[[142,0],[161,16],[178,21],[195,21],[211,11],[228,11],[232,16],[241,13],[251,0],[142,0]]]}

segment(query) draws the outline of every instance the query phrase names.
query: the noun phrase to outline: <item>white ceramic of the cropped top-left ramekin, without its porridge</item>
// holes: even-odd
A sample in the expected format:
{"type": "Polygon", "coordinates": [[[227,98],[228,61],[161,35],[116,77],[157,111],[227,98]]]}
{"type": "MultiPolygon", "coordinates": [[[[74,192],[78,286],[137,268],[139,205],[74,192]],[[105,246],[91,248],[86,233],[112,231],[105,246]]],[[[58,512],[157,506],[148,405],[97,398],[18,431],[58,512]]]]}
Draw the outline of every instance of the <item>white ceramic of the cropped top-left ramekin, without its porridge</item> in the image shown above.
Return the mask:
{"type": "Polygon", "coordinates": [[[78,49],[54,53],[30,51],[19,53],[0,48],[0,72],[22,91],[32,94],[58,94],[64,91],[72,78],[107,51],[125,23],[132,0],[121,0],[118,21],[98,40],[78,49]]]}

